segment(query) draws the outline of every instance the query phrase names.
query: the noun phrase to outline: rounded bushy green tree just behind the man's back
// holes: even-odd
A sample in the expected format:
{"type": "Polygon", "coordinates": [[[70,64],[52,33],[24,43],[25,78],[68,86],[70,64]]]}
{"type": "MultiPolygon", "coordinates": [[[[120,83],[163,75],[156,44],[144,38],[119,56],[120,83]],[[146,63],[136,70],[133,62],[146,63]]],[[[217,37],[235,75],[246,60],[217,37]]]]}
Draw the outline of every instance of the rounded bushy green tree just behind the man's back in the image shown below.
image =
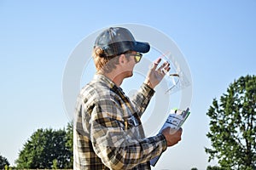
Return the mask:
{"type": "Polygon", "coordinates": [[[65,129],[40,128],[26,141],[16,163],[18,168],[70,168],[72,156],[65,129]]]}

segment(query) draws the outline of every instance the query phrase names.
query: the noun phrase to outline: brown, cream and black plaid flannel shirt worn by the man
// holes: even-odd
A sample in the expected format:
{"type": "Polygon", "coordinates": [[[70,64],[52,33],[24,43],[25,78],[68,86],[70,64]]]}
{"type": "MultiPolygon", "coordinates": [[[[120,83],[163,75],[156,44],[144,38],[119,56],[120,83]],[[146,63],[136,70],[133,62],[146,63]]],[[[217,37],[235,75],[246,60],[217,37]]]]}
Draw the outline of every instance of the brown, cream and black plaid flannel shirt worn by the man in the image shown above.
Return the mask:
{"type": "Polygon", "coordinates": [[[108,77],[82,88],[74,119],[74,169],[150,169],[166,150],[162,134],[145,138],[142,116],[154,90],[144,84],[128,99],[108,77]]]}

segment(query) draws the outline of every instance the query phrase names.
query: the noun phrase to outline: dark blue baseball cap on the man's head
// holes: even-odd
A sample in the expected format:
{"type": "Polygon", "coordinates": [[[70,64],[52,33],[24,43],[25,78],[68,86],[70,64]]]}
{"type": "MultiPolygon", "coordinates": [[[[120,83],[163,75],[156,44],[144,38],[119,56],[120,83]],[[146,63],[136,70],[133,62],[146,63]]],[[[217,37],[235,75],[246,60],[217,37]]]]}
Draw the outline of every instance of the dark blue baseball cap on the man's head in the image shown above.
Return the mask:
{"type": "Polygon", "coordinates": [[[148,42],[137,42],[131,31],[123,27],[110,27],[102,31],[96,37],[94,47],[102,48],[106,56],[119,55],[130,50],[148,53],[150,49],[148,42]]]}

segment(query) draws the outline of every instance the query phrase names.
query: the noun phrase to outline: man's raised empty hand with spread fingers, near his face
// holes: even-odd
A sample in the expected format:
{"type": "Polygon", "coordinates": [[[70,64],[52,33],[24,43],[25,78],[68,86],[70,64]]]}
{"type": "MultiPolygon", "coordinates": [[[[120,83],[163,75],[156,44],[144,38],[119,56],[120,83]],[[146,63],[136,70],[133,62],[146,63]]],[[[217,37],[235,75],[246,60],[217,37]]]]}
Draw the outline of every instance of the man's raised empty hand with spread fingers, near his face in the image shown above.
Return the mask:
{"type": "Polygon", "coordinates": [[[148,84],[150,88],[154,88],[157,86],[163,77],[165,77],[165,71],[168,72],[170,71],[170,64],[168,62],[165,62],[163,65],[160,65],[158,69],[157,65],[160,64],[161,58],[158,58],[154,61],[152,64],[150,70],[148,71],[148,76],[146,77],[146,80],[144,83],[148,84]]]}

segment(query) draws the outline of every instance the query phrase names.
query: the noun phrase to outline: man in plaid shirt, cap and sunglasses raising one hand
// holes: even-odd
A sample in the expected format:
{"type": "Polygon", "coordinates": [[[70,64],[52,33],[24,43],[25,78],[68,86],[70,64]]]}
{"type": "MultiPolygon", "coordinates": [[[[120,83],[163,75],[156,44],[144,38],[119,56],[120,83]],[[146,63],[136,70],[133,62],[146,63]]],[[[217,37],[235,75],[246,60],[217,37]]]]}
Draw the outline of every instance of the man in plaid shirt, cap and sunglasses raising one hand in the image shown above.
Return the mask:
{"type": "Polygon", "coordinates": [[[96,38],[93,57],[96,75],[82,88],[74,120],[74,169],[150,169],[149,161],[181,140],[182,129],[145,138],[140,117],[154,94],[154,87],[170,70],[157,59],[132,99],[121,83],[132,77],[134,66],[149,51],[131,32],[111,27],[96,38]],[[165,70],[165,71],[163,71],[165,70]]]}

